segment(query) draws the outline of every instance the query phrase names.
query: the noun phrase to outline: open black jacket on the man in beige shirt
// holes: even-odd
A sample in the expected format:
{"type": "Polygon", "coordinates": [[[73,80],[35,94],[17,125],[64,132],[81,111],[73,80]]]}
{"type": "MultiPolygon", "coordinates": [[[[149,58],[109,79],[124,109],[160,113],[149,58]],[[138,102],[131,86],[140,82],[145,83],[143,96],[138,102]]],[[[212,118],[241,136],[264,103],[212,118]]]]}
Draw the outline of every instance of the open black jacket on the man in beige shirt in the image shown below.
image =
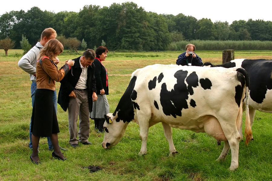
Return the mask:
{"type": "MultiPolygon", "coordinates": [[[[81,56],[80,56],[81,57],[81,56]]],[[[81,75],[82,69],[80,67],[79,58],[73,59],[75,61],[74,66],[68,72],[68,74],[60,81],[60,91],[58,94],[58,104],[60,107],[66,111],[69,104],[69,94],[75,89],[76,84],[81,75]]],[[[95,65],[88,67],[87,71],[87,89],[88,89],[88,101],[89,101],[89,111],[92,112],[92,93],[96,92],[96,79],[94,77],[95,65]]]]}

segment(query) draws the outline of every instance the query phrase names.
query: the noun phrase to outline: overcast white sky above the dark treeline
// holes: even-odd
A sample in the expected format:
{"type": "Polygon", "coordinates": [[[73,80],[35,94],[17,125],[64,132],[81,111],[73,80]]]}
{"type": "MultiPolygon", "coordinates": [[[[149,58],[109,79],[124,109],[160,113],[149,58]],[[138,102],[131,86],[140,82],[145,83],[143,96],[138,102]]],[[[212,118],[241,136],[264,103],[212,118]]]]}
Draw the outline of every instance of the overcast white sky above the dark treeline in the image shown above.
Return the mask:
{"type": "MultiPolygon", "coordinates": [[[[42,11],[73,11],[79,12],[84,5],[99,5],[110,6],[112,3],[128,2],[126,0],[11,0],[3,1],[0,5],[0,15],[12,10],[19,11],[23,9],[27,12],[30,8],[37,6],[42,11]]],[[[131,1],[129,1],[131,2],[131,1]]],[[[157,14],[173,14],[182,13],[186,16],[193,16],[196,19],[208,18],[212,22],[228,21],[229,24],[235,20],[248,19],[263,19],[264,21],[272,21],[271,6],[272,1],[253,1],[253,0],[194,0],[194,1],[180,1],[180,0],[133,0],[138,7],[143,7],[147,12],[156,12],[157,14]]]]}

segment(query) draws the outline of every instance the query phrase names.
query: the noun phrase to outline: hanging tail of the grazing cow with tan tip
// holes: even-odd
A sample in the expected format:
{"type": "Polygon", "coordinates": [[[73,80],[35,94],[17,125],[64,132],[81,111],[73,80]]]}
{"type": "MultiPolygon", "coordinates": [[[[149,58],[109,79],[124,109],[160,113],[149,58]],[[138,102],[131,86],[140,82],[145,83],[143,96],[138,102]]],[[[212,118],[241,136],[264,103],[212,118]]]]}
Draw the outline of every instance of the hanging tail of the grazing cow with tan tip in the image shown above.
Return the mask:
{"type": "Polygon", "coordinates": [[[249,76],[248,76],[248,72],[245,71],[243,68],[238,68],[237,71],[244,75],[245,81],[246,81],[246,92],[245,92],[245,100],[244,100],[246,120],[245,120],[244,134],[246,137],[245,144],[248,145],[248,143],[250,142],[252,138],[252,130],[251,130],[251,124],[250,124],[250,118],[249,118],[249,109],[248,109],[249,76]]]}

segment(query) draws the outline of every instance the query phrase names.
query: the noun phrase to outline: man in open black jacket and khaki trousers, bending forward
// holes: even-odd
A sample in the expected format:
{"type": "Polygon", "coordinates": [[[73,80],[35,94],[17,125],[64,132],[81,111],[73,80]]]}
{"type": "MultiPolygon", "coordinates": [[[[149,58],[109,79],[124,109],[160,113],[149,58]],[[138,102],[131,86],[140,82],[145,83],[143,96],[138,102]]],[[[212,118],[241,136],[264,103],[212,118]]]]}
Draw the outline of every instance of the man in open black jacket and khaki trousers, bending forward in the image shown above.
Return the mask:
{"type": "Polygon", "coordinates": [[[75,64],[69,73],[60,81],[58,103],[66,111],[68,108],[68,123],[72,147],[78,147],[78,142],[85,145],[92,144],[88,141],[92,102],[97,100],[96,79],[94,77],[95,65],[92,64],[96,57],[93,50],[86,50],[83,56],[73,59],[75,64]],[[77,119],[79,116],[79,131],[77,132],[77,119]],[[77,135],[79,139],[77,139],[77,135]]]}

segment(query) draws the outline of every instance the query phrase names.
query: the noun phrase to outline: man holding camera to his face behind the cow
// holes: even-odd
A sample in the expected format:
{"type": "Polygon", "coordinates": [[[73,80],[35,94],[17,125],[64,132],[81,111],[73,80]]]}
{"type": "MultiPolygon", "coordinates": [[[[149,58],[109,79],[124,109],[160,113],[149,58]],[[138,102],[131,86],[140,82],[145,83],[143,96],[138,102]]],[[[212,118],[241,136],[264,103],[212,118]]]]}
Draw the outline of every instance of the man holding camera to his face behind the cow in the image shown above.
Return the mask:
{"type": "Polygon", "coordinates": [[[176,60],[177,65],[188,65],[188,66],[202,66],[203,62],[201,58],[194,53],[196,46],[193,44],[186,45],[186,52],[183,52],[178,56],[176,60]]]}

